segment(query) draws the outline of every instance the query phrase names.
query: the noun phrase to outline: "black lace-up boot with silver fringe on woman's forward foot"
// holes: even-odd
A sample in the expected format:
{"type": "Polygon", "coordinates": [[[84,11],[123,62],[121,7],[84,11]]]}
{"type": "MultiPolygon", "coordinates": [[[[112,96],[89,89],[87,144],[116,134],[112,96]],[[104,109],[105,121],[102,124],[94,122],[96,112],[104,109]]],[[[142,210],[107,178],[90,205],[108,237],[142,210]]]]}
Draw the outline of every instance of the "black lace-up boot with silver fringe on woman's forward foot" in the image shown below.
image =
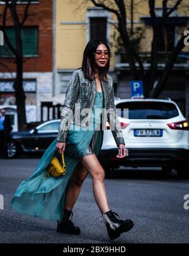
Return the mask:
{"type": "Polygon", "coordinates": [[[112,211],[105,212],[100,218],[101,223],[106,225],[110,240],[118,238],[121,233],[132,229],[134,223],[130,219],[123,221],[118,214],[112,211]]]}

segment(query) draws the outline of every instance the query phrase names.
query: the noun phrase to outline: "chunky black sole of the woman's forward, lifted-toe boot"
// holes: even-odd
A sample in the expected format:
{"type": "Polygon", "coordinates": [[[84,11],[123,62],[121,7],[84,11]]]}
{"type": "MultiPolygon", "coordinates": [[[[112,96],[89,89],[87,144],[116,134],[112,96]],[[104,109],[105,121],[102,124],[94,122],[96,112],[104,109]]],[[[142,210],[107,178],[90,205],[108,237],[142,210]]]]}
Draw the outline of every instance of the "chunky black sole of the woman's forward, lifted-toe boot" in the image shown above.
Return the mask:
{"type": "Polygon", "coordinates": [[[108,236],[110,240],[113,240],[115,238],[118,238],[123,232],[127,232],[131,230],[134,226],[134,223],[132,221],[125,222],[121,224],[118,228],[115,230],[112,230],[110,227],[107,227],[108,236]]]}

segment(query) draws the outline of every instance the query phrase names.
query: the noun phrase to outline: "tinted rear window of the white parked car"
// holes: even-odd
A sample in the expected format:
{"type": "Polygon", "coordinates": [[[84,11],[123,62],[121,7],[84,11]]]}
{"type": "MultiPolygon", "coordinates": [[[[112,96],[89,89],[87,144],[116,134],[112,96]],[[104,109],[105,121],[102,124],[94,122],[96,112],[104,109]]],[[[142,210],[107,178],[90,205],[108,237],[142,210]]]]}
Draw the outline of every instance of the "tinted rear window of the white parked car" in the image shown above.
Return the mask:
{"type": "Polygon", "coordinates": [[[170,119],[177,117],[179,112],[173,103],[168,102],[122,102],[116,108],[120,108],[118,115],[123,115],[123,108],[128,108],[129,119],[170,119]]]}

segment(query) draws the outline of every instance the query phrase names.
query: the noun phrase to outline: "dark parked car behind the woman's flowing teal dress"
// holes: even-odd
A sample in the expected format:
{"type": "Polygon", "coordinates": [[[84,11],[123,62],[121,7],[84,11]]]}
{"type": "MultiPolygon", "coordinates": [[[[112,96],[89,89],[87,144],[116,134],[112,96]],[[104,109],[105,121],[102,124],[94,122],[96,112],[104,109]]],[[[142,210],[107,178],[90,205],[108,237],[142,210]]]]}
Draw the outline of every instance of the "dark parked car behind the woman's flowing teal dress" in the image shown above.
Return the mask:
{"type": "Polygon", "coordinates": [[[57,137],[60,119],[50,120],[24,132],[11,132],[8,156],[14,158],[22,153],[43,153],[57,137]]]}

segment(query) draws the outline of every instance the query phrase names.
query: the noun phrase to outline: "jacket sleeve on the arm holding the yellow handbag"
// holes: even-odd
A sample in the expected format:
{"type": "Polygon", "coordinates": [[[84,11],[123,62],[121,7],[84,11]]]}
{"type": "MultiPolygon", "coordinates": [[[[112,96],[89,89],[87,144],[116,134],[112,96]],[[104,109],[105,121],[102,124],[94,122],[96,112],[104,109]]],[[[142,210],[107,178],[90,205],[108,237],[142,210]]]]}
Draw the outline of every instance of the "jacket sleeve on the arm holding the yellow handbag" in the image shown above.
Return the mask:
{"type": "Polygon", "coordinates": [[[79,74],[77,73],[77,71],[74,71],[69,81],[69,86],[66,90],[66,98],[62,105],[62,111],[60,114],[61,120],[60,120],[59,132],[57,135],[57,142],[66,142],[66,137],[69,131],[69,126],[71,124],[72,113],[77,100],[78,91],[79,91],[79,74]]]}

